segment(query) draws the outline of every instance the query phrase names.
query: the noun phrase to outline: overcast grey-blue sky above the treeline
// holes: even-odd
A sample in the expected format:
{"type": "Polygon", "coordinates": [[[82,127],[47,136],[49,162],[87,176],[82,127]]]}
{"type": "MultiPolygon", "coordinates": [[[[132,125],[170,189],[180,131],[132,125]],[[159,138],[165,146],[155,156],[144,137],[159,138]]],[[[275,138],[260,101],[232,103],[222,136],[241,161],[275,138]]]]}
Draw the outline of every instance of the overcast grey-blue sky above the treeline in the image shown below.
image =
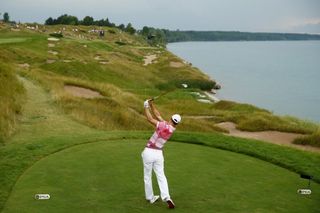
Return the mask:
{"type": "Polygon", "coordinates": [[[320,0],[0,0],[4,12],[21,22],[66,13],[138,29],[320,33],[320,0]]]}

